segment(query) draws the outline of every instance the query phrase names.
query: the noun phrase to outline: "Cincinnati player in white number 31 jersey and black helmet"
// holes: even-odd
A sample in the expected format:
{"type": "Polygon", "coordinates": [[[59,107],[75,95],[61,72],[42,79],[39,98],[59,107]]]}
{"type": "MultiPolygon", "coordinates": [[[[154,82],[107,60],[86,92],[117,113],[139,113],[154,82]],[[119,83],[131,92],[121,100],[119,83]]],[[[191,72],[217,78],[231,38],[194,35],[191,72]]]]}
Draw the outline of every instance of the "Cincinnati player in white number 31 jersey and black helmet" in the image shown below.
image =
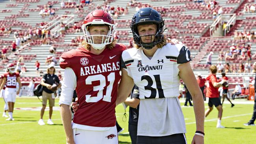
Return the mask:
{"type": "Polygon", "coordinates": [[[122,78],[116,104],[126,100],[134,83],[139,87],[137,144],[187,144],[186,126],[178,100],[183,79],[194,102],[197,130],[192,144],[204,143],[204,100],[182,44],[167,44],[160,13],[147,7],[137,11],[131,29],[136,48],[122,52],[122,78]]]}

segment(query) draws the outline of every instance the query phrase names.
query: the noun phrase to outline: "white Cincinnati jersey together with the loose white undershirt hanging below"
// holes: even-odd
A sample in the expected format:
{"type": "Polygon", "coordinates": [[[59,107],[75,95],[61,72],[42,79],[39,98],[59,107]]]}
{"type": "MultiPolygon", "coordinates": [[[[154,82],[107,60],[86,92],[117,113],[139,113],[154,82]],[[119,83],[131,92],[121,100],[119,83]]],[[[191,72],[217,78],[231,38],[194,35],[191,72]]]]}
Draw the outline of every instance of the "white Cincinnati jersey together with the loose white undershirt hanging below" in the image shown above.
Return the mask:
{"type": "Polygon", "coordinates": [[[161,137],[186,133],[179,96],[178,65],[191,61],[190,52],[181,44],[158,48],[151,59],[142,49],[122,53],[121,66],[139,87],[137,135],[161,137]]]}

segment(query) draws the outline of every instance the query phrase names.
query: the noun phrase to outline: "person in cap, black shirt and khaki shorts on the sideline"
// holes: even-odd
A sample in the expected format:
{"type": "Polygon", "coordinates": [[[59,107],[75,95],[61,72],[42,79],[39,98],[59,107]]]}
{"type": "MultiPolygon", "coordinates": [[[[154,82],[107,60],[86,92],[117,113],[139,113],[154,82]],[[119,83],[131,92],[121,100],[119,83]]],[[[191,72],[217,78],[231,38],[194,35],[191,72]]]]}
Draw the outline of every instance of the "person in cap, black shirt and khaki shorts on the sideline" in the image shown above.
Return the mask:
{"type": "Polygon", "coordinates": [[[52,86],[53,85],[58,85],[57,89],[59,87],[61,87],[61,83],[59,83],[59,78],[57,75],[54,74],[55,73],[55,68],[54,65],[48,65],[47,68],[47,74],[45,74],[43,76],[43,78],[41,79],[41,85],[43,86],[43,107],[41,109],[41,118],[38,121],[38,124],[40,126],[45,125],[44,121],[43,121],[43,115],[45,113],[45,108],[46,108],[46,104],[47,104],[47,100],[49,100],[49,119],[47,121],[47,124],[52,125],[54,124],[51,120],[52,117],[52,107],[54,107],[54,99],[55,99],[55,93],[54,91],[52,91],[52,86]]]}

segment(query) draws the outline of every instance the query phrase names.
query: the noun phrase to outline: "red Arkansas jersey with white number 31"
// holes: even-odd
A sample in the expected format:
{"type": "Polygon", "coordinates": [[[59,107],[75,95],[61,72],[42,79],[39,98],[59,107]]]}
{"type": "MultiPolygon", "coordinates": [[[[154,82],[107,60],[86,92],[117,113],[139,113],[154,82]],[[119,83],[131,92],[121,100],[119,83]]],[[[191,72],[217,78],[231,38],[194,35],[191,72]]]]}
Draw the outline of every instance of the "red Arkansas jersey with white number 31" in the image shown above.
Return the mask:
{"type": "Polygon", "coordinates": [[[92,54],[84,48],[61,55],[59,66],[63,69],[72,68],[76,74],[79,109],[73,119],[75,124],[115,126],[115,101],[124,50],[124,44],[116,44],[112,50],[105,48],[100,55],[92,54]]]}

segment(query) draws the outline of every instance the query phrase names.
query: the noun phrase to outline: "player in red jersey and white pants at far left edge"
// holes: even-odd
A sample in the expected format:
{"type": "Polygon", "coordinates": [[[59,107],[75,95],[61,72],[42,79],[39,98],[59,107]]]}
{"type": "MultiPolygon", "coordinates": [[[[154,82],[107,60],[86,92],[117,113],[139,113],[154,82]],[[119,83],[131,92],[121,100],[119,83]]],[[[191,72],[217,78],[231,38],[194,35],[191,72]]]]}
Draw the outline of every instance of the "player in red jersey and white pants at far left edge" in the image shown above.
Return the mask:
{"type": "Polygon", "coordinates": [[[3,81],[1,83],[0,90],[4,88],[6,84],[5,97],[9,106],[9,118],[6,120],[14,120],[13,119],[13,108],[16,100],[16,95],[20,93],[20,74],[19,72],[15,72],[15,66],[10,63],[7,65],[7,73],[3,76],[3,81]],[[19,89],[16,89],[16,83],[19,83],[19,89]]]}

